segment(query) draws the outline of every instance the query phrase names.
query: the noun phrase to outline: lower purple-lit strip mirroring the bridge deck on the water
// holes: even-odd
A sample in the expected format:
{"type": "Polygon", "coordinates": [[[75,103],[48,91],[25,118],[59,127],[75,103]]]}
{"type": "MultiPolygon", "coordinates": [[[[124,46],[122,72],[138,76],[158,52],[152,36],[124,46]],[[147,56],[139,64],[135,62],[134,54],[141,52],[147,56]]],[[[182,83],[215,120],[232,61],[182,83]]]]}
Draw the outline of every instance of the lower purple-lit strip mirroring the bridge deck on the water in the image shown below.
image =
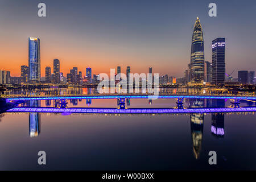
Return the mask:
{"type": "Polygon", "coordinates": [[[164,114],[164,113],[233,113],[233,112],[255,112],[256,107],[240,108],[189,108],[189,109],[171,109],[171,108],[133,108],[133,109],[115,109],[115,108],[54,108],[54,107],[14,107],[7,112],[24,113],[105,113],[105,114],[164,114]]]}

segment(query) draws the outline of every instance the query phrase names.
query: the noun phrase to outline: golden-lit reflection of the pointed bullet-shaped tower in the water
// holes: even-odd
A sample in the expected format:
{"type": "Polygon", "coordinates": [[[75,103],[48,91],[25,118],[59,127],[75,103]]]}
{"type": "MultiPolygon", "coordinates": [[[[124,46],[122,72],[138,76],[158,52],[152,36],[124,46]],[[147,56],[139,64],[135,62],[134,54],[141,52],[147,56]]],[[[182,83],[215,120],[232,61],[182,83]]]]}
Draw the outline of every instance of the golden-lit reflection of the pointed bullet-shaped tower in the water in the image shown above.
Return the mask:
{"type": "MultiPolygon", "coordinates": [[[[204,100],[189,100],[190,107],[204,107],[204,100]]],[[[199,159],[201,144],[203,140],[204,114],[192,113],[190,115],[191,137],[193,144],[193,155],[199,159]]]]}

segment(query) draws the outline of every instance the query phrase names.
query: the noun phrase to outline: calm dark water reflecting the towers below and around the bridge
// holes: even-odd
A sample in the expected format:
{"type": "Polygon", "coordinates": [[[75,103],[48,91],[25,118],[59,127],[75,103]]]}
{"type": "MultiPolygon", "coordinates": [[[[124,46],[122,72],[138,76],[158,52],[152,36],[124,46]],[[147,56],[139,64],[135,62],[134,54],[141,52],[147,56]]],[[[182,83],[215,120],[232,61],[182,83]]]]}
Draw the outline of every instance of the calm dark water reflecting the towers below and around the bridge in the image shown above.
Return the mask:
{"type": "MultiPolygon", "coordinates": [[[[68,107],[117,107],[117,100],[67,102],[68,107]]],[[[175,107],[175,102],[138,99],[127,107],[175,107]]],[[[57,105],[53,100],[23,104],[57,105]]],[[[184,101],[184,107],[230,105],[225,100],[184,101]]],[[[3,113],[0,119],[1,170],[256,169],[254,113],[3,113]],[[38,165],[41,150],[47,154],[46,166],[38,165]],[[217,152],[217,165],[210,166],[212,150],[217,152]]]]}

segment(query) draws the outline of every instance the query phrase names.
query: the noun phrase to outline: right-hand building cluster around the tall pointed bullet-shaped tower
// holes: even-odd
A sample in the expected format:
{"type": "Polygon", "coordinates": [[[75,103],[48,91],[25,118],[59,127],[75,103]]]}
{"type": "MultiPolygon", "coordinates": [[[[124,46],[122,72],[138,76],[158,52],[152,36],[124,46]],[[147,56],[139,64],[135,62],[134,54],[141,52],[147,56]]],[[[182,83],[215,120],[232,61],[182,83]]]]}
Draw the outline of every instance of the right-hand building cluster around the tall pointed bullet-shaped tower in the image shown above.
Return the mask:
{"type": "Polygon", "coordinates": [[[225,70],[225,38],[212,40],[212,61],[205,61],[203,30],[197,17],[192,34],[191,61],[184,71],[184,77],[177,78],[177,83],[220,85],[237,81],[240,84],[254,84],[254,71],[238,71],[238,79],[233,79],[225,70]]]}

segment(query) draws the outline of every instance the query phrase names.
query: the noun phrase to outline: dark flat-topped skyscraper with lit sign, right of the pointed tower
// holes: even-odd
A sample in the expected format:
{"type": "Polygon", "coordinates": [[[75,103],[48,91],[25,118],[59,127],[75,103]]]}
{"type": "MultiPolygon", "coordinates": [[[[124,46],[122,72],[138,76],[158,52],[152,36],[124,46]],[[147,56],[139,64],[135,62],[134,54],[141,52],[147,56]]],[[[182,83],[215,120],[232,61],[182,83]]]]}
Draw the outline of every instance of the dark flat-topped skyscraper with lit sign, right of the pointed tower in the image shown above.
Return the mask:
{"type": "Polygon", "coordinates": [[[225,38],[212,41],[212,82],[220,84],[225,81],[225,38]]]}

